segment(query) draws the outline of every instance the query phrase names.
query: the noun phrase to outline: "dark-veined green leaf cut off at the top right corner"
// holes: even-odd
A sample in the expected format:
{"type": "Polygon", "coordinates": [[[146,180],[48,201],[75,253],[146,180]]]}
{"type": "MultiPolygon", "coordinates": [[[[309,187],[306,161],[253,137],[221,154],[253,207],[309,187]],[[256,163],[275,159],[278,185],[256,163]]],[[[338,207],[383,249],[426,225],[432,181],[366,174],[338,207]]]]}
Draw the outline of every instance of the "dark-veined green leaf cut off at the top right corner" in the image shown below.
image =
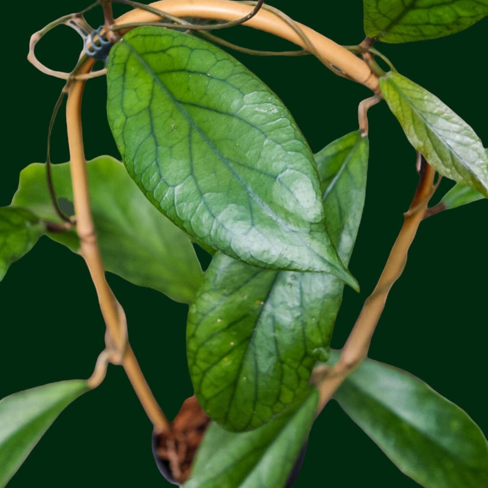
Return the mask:
{"type": "Polygon", "coordinates": [[[488,15],[488,0],[364,0],[366,35],[384,42],[435,39],[488,15]]]}

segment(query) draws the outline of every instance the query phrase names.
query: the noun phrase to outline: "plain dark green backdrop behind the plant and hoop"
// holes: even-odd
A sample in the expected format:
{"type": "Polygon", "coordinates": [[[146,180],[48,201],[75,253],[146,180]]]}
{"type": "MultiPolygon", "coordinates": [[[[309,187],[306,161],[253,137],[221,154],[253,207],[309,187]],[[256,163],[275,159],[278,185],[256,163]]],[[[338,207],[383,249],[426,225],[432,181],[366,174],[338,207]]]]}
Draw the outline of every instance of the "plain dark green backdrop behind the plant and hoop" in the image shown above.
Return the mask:
{"type": "MultiPolygon", "coordinates": [[[[275,0],[273,5],[333,40],[364,38],[362,2],[275,0]],[[334,3],[334,6],[330,6],[334,3]]],[[[83,0],[27,1],[4,7],[0,205],[10,203],[21,168],[45,160],[45,136],[62,81],[27,61],[29,36],[83,0]]],[[[94,26],[102,23],[97,10],[94,26]]],[[[435,93],[472,125],[488,145],[485,19],[468,31],[419,43],[377,44],[407,77],[435,93]]],[[[265,49],[287,48],[270,36],[239,27],[229,39],[265,49]]],[[[50,66],[70,70],[81,48],[61,26],[39,46],[50,66]]],[[[238,55],[288,105],[312,150],[357,128],[357,104],[368,90],[334,76],[311,57],[238,55]]],[[[83,104],[86,156],[117,156],[105,116],[105,81],[89,81],[83,104]]],[[[371,291],[415,189],[415,152],[386,103],[370,111],[371,154],[364,221],[350,269],[362,292],[346,290],[333,346],[371,291]]],[[[55,126],[53,160],[68,159],[63,113],[55,126]]],[[[446,181],[442,185],[448,187],[446,181]]],[[[486,416],[487,201],[445,212],[422,224],[407,269],[388,300],[370,357],[407,369],[464,408],[488,431],[486,416]]],[[[109,276],[125,308],[131,344],[169,418],[192,394],[184,355],[186,306],[155,291],[109,276]]],[[[103,322],[80,257],[42,238],[0,283],[0,397],[53,381],[86,378],[103,348],[103,322]]],[[[111,366],[103,385],[61,414],[10,482],[20,488],[169,486],[150,450],[151,426],[122,369],[111,366]]],[[[297,488],[417,486],[331,402],[317,420],[297,488]]],[[[216,487],[218,488],[218,487],[216,487]]],[[[269,487],[272,488],[272,487],[269,487]]]]}

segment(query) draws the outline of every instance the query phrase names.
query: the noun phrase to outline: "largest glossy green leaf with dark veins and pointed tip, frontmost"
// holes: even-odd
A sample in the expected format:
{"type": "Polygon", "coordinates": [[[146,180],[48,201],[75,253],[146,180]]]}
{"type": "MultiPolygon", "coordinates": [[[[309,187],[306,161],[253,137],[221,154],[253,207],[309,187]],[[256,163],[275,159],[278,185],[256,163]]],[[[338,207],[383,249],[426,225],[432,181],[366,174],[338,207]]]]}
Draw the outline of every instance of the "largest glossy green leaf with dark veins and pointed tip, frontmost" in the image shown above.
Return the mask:
{"type": "Polygon", "coordinates": [[[356,286],[325,231],[313,155],[283,103],[188,34],[140,27],[108,62],[108,120],[144,194],[197,242],[356,286]]]}

